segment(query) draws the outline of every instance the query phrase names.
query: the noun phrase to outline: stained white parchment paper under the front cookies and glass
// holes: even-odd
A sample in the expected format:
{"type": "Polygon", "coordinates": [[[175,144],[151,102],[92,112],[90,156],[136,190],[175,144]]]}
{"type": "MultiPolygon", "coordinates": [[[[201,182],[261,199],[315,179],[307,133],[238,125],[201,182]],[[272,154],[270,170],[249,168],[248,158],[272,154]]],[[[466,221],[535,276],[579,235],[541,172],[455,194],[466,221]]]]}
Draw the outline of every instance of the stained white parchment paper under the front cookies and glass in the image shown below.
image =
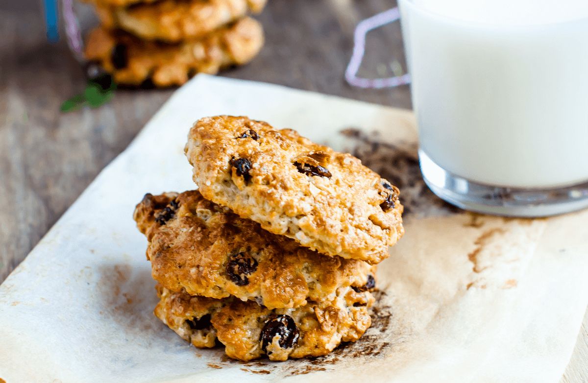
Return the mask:
{"type": "MultiPolygon", "coordinates": [[[[516,220],[459,211],[424,186],[412,113],[198,76],[86,189],[0,287],[0,378],[14,382],[557,382],[588,304],[588,212],[516,220]],[[194,189],[199,117],[292,127],[397,184],[406,235],[379,268],[364,337],[314,360],[240,363],[152,315],[146,192],[194,189]]],[[[6,223],[4,223],[6,224],[6,223]]]]}

